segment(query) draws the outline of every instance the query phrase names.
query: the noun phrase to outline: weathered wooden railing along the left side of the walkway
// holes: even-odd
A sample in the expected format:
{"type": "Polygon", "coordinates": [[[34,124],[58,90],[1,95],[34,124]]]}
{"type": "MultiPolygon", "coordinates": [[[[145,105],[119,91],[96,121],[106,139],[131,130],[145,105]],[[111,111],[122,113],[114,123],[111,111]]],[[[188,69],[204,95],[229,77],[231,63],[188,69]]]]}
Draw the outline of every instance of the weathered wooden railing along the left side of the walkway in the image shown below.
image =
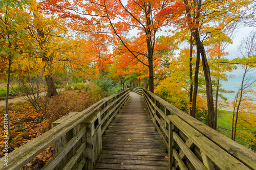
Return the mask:
{"type": "Polygon", "coordinates": [[[0,159],[0,169],[20,169],[53,145],[53,158],[42,169],[94,169],[102,150],[102,134],[129,98],[129,89],[104,98],[81,112],[69,113],[52,129],[0,159]]]}

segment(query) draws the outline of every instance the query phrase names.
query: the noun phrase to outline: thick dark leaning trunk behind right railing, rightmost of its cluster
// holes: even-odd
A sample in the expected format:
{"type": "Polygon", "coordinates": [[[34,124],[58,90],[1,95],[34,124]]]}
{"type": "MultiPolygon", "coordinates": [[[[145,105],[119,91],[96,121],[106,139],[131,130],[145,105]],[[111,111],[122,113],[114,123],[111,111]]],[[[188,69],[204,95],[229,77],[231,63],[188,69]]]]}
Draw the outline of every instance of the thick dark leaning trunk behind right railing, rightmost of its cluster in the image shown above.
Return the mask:
{"type": "Polygon", "coordinates": [[[210,68],[207,62],[204,45],[200,40],[198,30],[193,33],[194,38],[196,39],[197,45],[199,47],[201,56],[202,56],[202,65],[204,70],[204,78],[206,85],[206,97],[207,97],[207,106],[208,106],[208,126],[216,130],[215,124],[215,110],[214,110],[214,98],[212,96],[212,85],[210,79],[210,68]]]}

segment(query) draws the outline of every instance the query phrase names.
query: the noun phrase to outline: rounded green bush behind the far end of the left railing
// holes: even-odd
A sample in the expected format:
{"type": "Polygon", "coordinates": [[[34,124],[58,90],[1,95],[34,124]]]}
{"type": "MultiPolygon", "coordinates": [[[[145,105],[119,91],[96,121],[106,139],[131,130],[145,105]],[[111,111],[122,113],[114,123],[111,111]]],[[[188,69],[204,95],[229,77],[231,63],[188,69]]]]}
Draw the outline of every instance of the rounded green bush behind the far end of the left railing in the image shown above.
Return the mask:
{"type": "Polygon", "coordinates": [[[106,93],[107,95],[115,94],[122,90],[121,84],[115,83],[113,80],[108,78],[104,78],[102,80],[96,80],[95,83],[100,87],[102,92],[106,93]]]}

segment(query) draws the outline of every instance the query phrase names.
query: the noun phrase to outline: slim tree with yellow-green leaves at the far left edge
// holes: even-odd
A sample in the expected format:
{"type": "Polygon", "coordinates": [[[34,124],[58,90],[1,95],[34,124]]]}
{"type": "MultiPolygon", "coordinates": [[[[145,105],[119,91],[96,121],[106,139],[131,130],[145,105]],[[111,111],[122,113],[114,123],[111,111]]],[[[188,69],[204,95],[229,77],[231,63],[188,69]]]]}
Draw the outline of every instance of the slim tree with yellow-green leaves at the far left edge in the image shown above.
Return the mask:
{"type": "Polygon", "coordinates": [[[0,2],[0,69],[1,79],[7,78],[6,116],[8,118],[9,140],[12,139],[8,112],[11,73],[18,69],[15,64],[22,54],[31,54],[32,52],[28,34],[23,29],[26,21],[26,13],[23,10],[27,3],[27,1],[0,2]]]}

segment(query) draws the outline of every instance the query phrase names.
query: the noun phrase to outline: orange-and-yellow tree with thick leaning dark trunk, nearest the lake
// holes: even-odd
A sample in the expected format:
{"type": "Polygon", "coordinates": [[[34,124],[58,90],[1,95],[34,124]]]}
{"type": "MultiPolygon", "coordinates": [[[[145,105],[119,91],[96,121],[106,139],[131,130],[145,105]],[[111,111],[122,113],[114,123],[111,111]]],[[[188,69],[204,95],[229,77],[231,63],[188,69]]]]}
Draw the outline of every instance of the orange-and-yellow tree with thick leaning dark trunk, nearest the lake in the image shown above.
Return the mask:
{"type": "MultiPolygon", "coordinates": [[[[207,62],[204,40],[207,37],[218,35],[225,28],[232,27],[235,18],[241,18],[244,14],[242,8],[250,2],[244,1],[183,1],[185,15],[175,20],[177,28],[188,29],[195,39],[198,52],[202,57],[202,66],[206,82],[206,96],[208,103],[209,126],[216,129],[214,100],[210,69],[207,62]]],[[[165,10],[166,11],[166,10],[165,10]]],[[[165,12],[163,11],[163,12],[165,12]]],[[[172,16],[172,15],[171,15],[172,16]]]]}

